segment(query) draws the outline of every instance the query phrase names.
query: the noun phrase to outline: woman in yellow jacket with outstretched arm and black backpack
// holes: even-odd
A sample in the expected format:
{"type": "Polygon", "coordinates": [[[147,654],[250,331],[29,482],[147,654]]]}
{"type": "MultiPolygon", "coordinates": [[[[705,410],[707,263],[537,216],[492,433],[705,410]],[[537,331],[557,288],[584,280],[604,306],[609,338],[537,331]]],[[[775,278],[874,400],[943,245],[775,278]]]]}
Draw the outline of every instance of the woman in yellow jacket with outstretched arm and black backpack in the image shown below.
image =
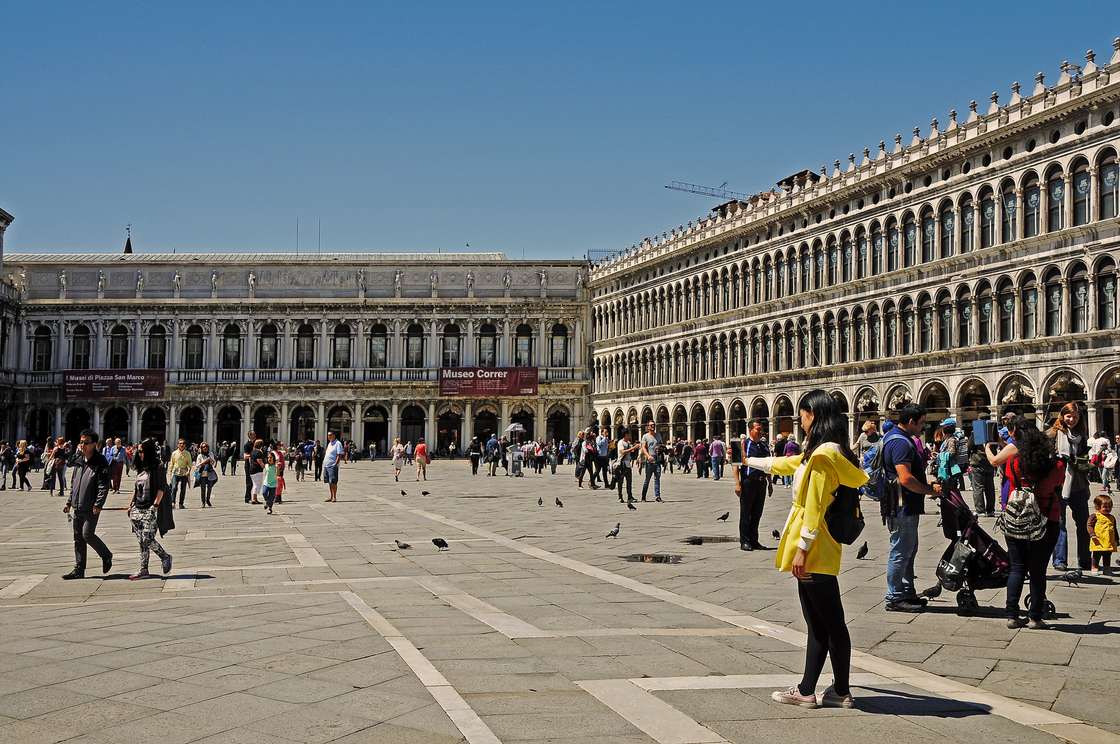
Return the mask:
{"type": "Polygon", "coordinates": [[[834,398],[812,390],[799,404],[804,452],[791,457],[748,457],[746,464],[774,475],[793,476],[793,508],[777,548],[777,567],[797,578],[801,611],[809,626],[805,672],[801,685],[772,697],[805,708],[853,705],[848,679],[851,638],[840,602],[840,543],[829,534],[824,512],[840,485],[859,487],[867,481],[848,446],[848,419],[834,398]],[[825,657],[832,657],[833,682],[816,692],[825,657]]]}

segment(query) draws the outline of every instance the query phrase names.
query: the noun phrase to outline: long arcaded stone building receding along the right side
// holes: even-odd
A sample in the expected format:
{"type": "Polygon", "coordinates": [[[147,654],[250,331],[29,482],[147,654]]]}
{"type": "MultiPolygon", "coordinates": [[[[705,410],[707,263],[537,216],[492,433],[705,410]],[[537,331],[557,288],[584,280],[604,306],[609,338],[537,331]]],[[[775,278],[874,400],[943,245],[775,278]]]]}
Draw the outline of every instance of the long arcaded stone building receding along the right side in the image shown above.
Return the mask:
{"type": "Polygon", "coordinates": [[[776,435],[825,388],[853,438],[911,400],[1120,434],[1120,39],[958,119],[594,263],[592,419],[776,435]]]}

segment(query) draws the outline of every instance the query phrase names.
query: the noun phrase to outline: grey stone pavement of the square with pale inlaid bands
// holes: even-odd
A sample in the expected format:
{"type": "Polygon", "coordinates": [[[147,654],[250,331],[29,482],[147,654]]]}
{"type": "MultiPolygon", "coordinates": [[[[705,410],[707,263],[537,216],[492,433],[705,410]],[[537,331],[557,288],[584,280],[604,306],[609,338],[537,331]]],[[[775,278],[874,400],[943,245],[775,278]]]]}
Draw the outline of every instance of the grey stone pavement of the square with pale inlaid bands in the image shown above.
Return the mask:
{"type": "MultiPolygon", "coordinates": [[[[973,617],[949,593],[888,614],[886,533],[869,522],[867,559],[847,551],[840,574],[857,706],[804,710],[769,699],[800,678],[804,629],[774,554],[741,552],[735,519],[716,521],[737,513],[730,478],[666,475],[665,502],[635,512],[577,491],[566,465],[428,473],[396,483],[389,462],[347,464],[337,503],[291,482],[272,517],[224,477],[213,509],[192,493],[175,512],[171,574],[141,582],[121,511],[100,524],[113,570],[64,582],[63,501],[0,492],[0,741],[1120,742],[1109,577],[1052,583],[1046,632],[1008,630],[997,590],[973,617]]],[[[787,505],[775,489],[764,534],[787,505]]],[[[935,523],[924,584],[945,547],[935,523]]]]}

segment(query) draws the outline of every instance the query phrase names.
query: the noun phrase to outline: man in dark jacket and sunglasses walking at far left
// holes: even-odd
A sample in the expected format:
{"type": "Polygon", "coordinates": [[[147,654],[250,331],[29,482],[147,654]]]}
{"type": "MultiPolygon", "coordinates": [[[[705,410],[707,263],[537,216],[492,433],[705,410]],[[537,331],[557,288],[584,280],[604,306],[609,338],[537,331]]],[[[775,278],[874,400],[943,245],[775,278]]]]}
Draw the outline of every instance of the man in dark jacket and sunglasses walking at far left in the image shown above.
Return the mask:
{"type": "Polygon", "coordinates": [[[73,510],[74,523],[74,570],[63,578],[85,578],[87,545],[101,556],[103,573],[108,574],[113,567],[113,554],[95,534],[111,482],[109,461],[97,452],[97,433],[86,429],[78,439],[77,454],[71,461],[71,495],[63,506],[66,513],[73,510]]]}

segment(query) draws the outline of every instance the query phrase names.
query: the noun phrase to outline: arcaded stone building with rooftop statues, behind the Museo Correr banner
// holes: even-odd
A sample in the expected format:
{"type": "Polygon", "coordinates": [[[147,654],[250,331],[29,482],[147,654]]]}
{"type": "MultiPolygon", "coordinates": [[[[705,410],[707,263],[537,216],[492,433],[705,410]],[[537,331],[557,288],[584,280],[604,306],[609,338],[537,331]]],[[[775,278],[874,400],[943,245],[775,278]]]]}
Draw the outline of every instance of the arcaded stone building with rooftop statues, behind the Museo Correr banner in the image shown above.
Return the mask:
{"type": "Polygon", "coordinates": [[[447,446],[517,422],[569,439],[585,417],[579,261],[11,254],[4,272],[9,438],[73,439],[92,426],[132,440],[243,440],[252,428],[289,441],[329,427],[358,445],[447,446]],[[536,366],[539,394],[440,397],[441,366],[536,366]],[[159,371],[164,392],[67,397],[67,373],[113,369],[159,371]]]}

